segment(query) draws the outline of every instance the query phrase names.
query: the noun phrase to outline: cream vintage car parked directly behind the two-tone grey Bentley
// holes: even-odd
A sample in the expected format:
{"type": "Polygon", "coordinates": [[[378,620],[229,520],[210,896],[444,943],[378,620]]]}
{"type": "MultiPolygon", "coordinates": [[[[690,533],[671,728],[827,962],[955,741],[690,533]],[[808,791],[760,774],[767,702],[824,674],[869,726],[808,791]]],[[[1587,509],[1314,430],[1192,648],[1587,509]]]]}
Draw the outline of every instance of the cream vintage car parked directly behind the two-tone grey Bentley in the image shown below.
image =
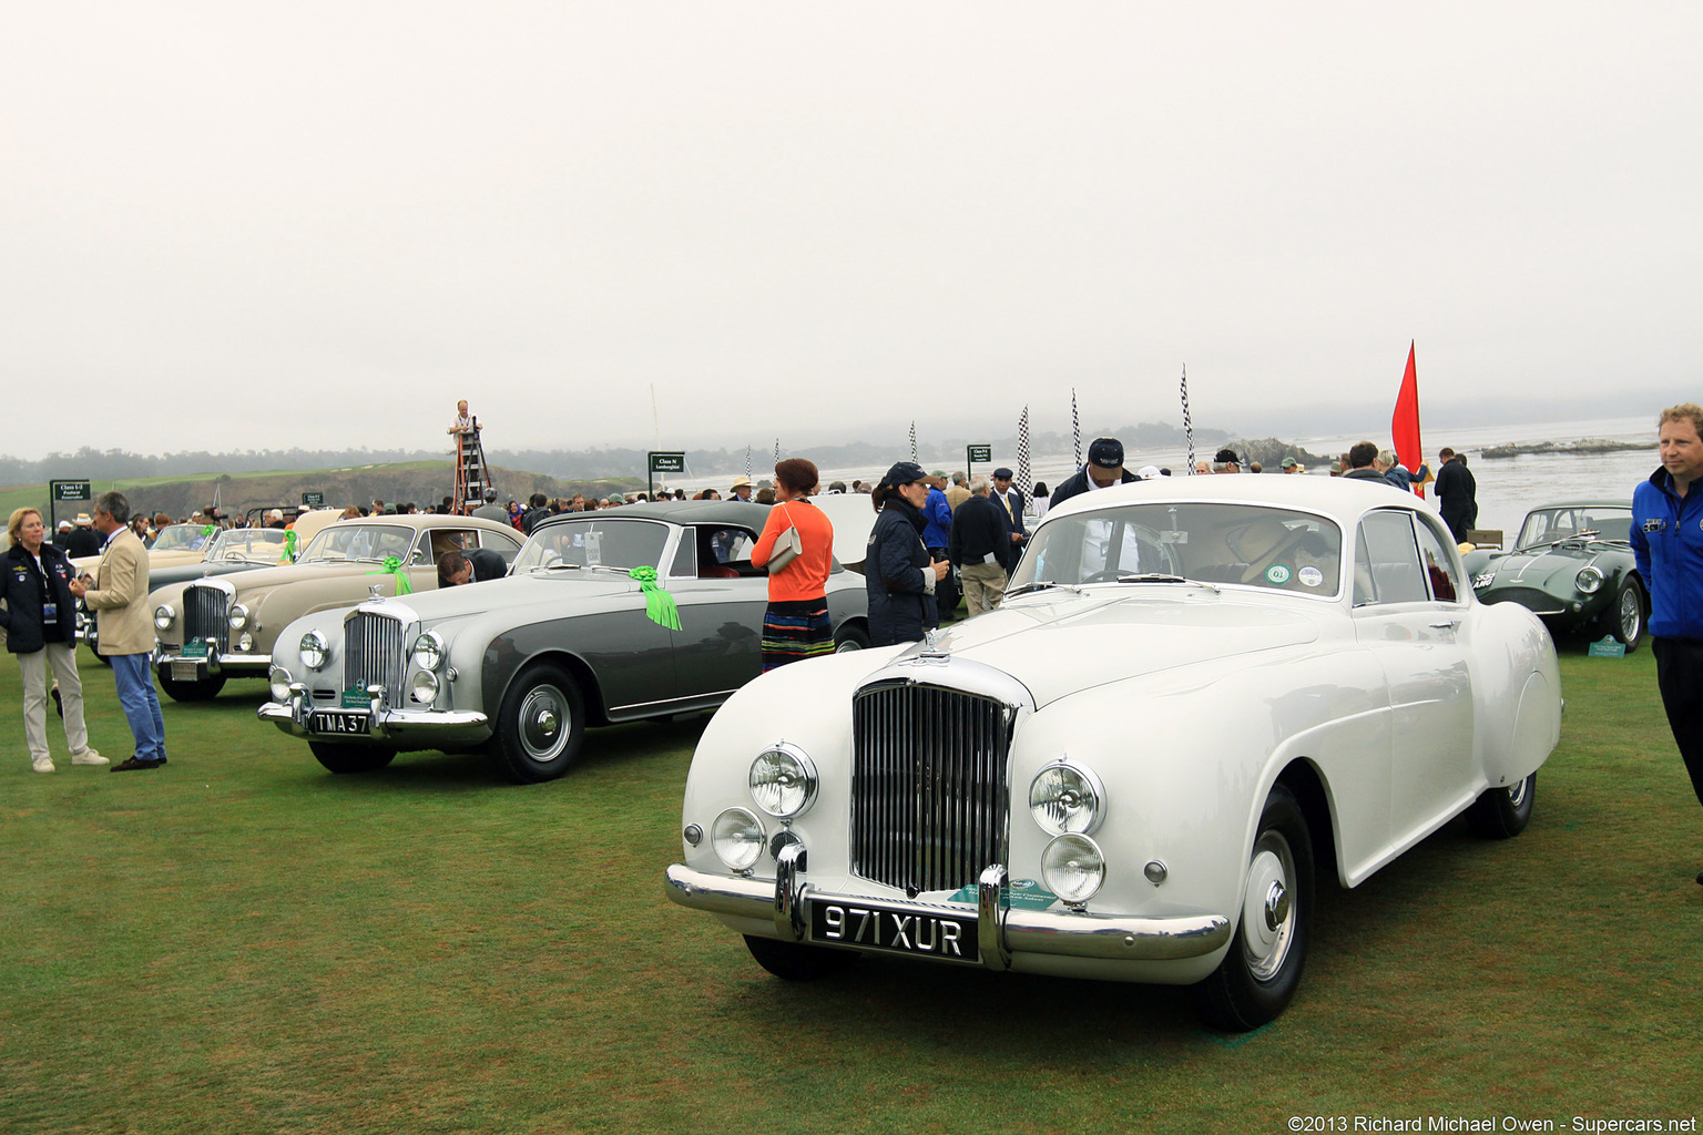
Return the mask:
{"type": "Polygon", "coordinates": [[[513,562],[521,538],[507,524],[465,516],[383,516],[327,524],[290,567],[160,587],[153,606],[153,669],[177,701],[218,694],[228,677],[266,677],[272,642],[312,611],[371,596],[438,587],[438,556],[490,548],[513,562]],[[376,590],[375,590],[376,589],[376,590]]]}

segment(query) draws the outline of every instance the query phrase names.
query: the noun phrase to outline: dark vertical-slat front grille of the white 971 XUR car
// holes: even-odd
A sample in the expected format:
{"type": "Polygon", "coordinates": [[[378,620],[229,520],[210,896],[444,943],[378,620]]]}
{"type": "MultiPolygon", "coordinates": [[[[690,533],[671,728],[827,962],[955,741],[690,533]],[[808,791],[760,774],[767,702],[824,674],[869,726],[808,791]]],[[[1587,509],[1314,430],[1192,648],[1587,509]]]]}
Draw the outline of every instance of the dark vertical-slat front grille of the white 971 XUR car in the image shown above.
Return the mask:
{"type": "Polygon", "coordinates": [[[880,682],[852,701],[852,871],[909,893],[957,890],[1005,861],[1015,708],[880,682]]]}

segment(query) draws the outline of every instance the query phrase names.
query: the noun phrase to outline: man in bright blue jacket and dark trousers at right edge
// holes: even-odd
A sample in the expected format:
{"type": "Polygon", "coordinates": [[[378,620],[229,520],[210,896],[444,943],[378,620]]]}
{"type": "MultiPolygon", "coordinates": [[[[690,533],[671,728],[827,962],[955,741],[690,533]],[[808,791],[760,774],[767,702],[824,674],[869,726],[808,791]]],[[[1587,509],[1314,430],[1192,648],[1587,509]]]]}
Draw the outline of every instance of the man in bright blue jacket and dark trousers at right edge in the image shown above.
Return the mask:
{"type": "MultiPolygon", "coordinates": [[[[1631,492],[1631,550],[1650,589],[1667,725],[1703,803],[1703,407],[1662,410],[1662,468],[1631,492]]],[[[1698,873],[1703,883],[1703,871],[1698,873]]]]}

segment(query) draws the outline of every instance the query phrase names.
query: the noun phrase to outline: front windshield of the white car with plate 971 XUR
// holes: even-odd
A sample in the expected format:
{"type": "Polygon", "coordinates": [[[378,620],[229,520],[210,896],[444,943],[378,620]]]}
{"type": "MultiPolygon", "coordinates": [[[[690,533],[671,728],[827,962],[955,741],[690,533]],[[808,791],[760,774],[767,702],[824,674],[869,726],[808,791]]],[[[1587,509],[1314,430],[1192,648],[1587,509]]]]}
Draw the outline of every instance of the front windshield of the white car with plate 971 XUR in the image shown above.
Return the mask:
{"type": "Polygon", "coordinates": [[[1083,512],[1041,526],[1010,590],[1136,575],[1332,597],[1342,587],[1342,529],[1310,512],[1250,504],[1136,504],[1083,512]]]}

